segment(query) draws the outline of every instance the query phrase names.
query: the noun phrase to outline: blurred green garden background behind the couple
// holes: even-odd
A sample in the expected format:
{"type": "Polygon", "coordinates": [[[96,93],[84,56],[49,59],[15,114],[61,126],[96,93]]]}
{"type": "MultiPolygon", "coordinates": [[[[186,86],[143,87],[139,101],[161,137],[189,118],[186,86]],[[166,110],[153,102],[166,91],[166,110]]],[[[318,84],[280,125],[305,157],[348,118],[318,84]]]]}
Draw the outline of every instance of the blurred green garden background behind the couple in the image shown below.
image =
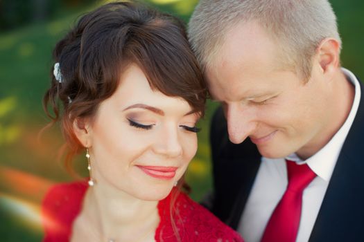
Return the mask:
{"type": "MultiPolygon", "coordinates": [[[[58,160],[62,136],[58,127],[40,130],[49,122],[42,111],[42,96],[49,86],[55,43],[81,12],[106,1],[46,1],[44,19],[29,9],[39,0],[0,0],[0,238],[1,241],[40,241],[40,202],[53,183],[72,180],[58,160]],[[87,6],[86,6],[87,5],[87,6]],[[6,16],[7,15],[7,16],[6,16]],[[22,16],[24,15],[24,16],[22,16]],[[11,21],[4,19],[8,18],[11,21]],[[15,26],[17,28],[15,28],[15,26]],[[11,28],[14,28],[11,30],[11,28]]],[[[188,21],[198,0],[145,0],[160,10],[188,21]]],[[[223,1],[222,1],[223,2],[223,1]]],[[[364,78],[364,1],[332,0],[343,38],[342,64],[364,78]]],[[[42,7],[45,8],[45,7],[42,7]]],[[[199,147],[187,172],[196,201],[211,189],[208,144],[209,120],[216,104],[207,105],[199,124],[199,147]]],[[[75,169],[87,174],[83,157],[75,169]]]]}

